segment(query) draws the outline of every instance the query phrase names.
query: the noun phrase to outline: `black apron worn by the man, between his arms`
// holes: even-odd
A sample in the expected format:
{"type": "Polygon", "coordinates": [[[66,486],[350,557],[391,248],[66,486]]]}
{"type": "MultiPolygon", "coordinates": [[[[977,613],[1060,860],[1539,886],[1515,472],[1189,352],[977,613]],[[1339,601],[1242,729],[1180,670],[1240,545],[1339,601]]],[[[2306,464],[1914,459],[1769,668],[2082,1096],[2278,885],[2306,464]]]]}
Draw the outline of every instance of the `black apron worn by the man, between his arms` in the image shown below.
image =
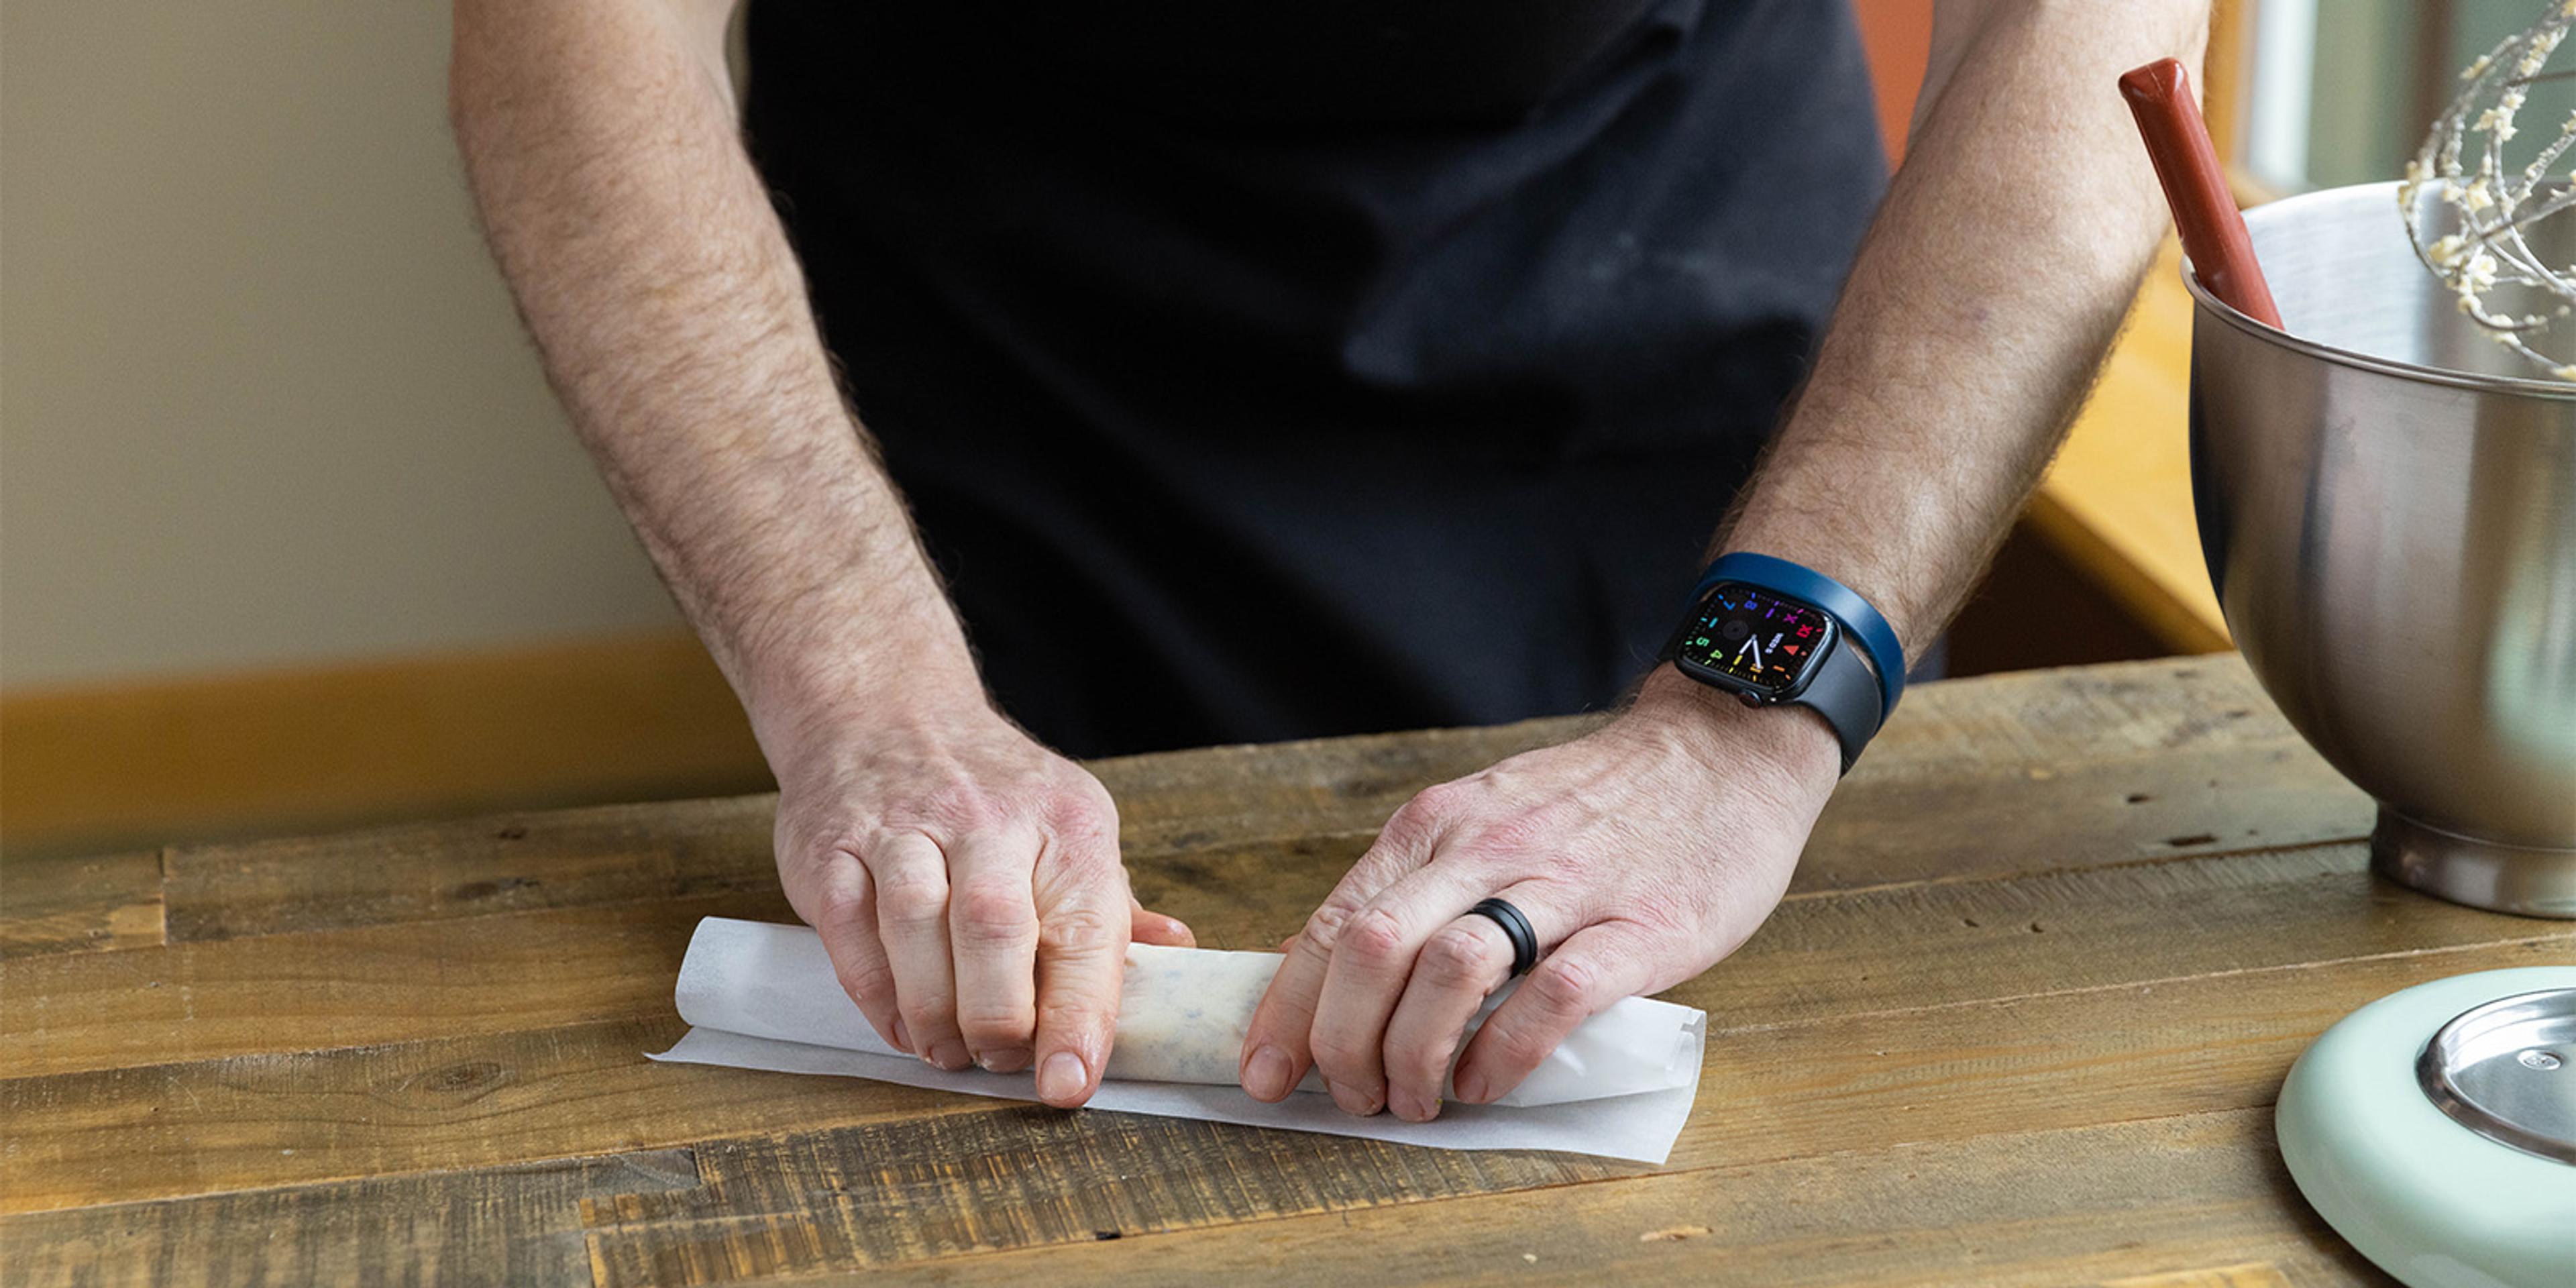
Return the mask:
{"type": "Polygon", "coordinates": [[[1886,183],[1839,0],[755,0],[747,131],[1005,711],[1597,708],[1886,183]]]}

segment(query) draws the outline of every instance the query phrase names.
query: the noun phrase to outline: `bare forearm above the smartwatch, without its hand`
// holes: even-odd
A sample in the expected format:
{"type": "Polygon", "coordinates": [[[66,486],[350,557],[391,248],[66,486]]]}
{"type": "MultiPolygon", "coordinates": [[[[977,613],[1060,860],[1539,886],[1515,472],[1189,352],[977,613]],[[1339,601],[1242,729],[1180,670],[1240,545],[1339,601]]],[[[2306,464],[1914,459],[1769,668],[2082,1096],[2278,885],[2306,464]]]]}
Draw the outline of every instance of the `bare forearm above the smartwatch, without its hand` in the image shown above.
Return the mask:
{"type": "Polygon", "coordinates": [[[1927,111],[1795,412],[1721,533],[1950,621],[2074,417],[2164,229],[2115,77],[2208,5],[1950,3],[1927,111]]]}

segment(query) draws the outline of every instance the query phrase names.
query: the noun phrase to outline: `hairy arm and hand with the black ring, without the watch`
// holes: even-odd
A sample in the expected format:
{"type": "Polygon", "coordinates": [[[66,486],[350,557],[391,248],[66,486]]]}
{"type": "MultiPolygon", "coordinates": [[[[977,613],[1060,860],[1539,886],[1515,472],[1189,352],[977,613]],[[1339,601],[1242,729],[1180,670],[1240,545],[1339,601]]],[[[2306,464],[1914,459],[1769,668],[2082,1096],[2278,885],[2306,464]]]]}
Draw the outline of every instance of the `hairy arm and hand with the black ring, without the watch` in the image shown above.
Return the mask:
{"type": "MultiPolygon", "coordinates": [[[[2115,80],[2200,59],[2197,0],[1945,0],[1904,167],[1816,368],[1718,536],[1935,639],[2030,495],[2164,229],[2115,80]]],[[[1772,129],[1795,129],[1772,124],[1772,129]]],[[[1747,711],[1669,665],[1605,729],[1443,783],[1309,917],[1244,1041],[1244,1090],[1309,1066],[1350,1113],[1520,1084],[1584,1018],[1734,953],[1837,781],[1806,708],[1747,711]],[[1463,1041],[1512,963],[1543,961],[1463,1041]],[[1455,1064],[1453,1064],[1455,1056],[1455,1064]]]]}

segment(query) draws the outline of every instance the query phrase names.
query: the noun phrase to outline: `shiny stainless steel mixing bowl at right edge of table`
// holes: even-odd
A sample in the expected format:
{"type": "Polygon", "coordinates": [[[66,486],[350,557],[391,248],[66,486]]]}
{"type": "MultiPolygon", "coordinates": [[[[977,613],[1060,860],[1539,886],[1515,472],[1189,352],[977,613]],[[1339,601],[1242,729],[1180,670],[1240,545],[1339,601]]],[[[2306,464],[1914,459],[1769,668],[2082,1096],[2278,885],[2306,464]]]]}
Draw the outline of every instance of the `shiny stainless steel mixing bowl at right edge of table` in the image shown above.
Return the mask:
{"type": "MultiPolygon", "coordinates": [[[[2396,183],[2246,224],[2287,335],[2184,273],[2192,500],[2228,631],[2380,801],[2383,876],[2576,917],[2576,384],[2460,317],[2396,183]]],[[[2576,263],[2576,211],[2543,232],[2576,263]]]]}

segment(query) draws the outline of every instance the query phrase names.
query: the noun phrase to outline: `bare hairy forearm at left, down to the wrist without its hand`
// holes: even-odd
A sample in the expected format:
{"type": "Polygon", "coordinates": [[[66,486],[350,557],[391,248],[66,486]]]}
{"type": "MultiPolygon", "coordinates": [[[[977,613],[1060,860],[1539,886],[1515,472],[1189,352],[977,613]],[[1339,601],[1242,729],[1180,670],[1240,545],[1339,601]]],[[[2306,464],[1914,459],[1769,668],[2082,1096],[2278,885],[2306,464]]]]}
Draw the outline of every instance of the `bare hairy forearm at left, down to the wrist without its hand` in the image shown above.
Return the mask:
{"type": "Polygon", "coordinates": [[[546,371],[762,742],[976,696],[742,149],[724,3],[459,0],[456,134],[546,371]]]}

